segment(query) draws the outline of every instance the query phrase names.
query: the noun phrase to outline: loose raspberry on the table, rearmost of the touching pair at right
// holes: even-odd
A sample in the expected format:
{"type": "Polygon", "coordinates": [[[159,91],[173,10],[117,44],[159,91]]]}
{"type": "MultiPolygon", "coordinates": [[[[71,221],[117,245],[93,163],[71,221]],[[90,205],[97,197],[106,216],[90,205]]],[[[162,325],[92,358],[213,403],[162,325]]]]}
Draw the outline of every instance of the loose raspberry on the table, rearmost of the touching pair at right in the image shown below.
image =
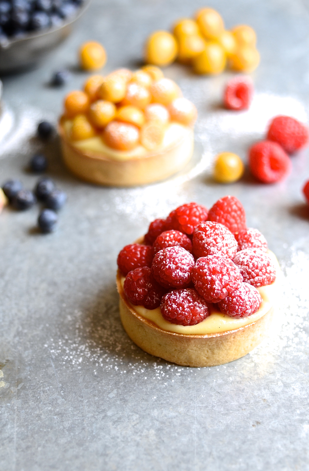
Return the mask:
{"type": "Polygon", "coordinates": [[[309,129],[291,116],[276,116],[270,123],[267,138],[280,144],[287,154],[293,154],[308,143],[309,129]]]}

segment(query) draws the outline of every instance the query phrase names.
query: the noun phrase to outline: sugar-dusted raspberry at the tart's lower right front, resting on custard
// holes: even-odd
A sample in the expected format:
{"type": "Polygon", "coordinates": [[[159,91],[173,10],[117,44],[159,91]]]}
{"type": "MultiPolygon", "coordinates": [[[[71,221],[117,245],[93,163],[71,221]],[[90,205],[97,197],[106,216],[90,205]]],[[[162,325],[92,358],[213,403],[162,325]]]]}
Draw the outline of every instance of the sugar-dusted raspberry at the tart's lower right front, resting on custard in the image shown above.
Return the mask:
{"type": "Polygon", "coordinates": [[[223,314],[230,317],[247,317],[259,310],[262,298],[254,286],[242,283],[239,288],[218,303],[223,314]]]}

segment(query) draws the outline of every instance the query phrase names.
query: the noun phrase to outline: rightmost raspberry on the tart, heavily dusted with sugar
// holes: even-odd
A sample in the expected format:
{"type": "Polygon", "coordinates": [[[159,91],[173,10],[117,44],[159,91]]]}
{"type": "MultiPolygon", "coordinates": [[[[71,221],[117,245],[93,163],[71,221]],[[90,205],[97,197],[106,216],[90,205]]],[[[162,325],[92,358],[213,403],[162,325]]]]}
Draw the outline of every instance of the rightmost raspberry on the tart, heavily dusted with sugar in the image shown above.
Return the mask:
{"type": "Polygon", "coordinates": [[[245,249],[237,252],[234,263],[240,269],[244,282],[258,288],[276,279],[276,268],[269,255],[261,249],[245,249]]]}

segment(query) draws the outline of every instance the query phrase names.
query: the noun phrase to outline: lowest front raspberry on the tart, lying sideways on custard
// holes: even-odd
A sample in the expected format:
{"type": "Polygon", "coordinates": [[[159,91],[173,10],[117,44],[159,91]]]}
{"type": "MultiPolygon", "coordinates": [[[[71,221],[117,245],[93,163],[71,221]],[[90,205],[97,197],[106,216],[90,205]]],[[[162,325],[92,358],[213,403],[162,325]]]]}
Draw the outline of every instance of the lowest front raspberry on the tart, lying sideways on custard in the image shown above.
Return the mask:
{"type": "Polygon", "coordinates": [[[178,325],[195,325],[210,315],[206,301],[193,288],[165,294],[161,312],[164,319],[178,325]]]}

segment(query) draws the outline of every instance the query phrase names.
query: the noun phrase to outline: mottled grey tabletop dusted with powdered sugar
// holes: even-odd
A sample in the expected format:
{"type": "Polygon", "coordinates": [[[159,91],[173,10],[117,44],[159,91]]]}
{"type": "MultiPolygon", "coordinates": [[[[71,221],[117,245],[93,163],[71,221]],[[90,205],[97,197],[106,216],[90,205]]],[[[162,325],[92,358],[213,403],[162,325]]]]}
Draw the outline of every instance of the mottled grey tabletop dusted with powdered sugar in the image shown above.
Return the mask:
{"type": "MultiPolygon", "coordinates": [[[[251,24],[261,64],[252,74],[249,112],[220,106],[230,73],[196,77],[180,65],[175,78],[199,111],[193,163],[177,178],[145,188],[100,188],[77,181],[61,163],[57,139],[44,151],[49,175],[69,199],[58,231],[35,228],[38,207],[0,216],[0,469],[309,470],[309,209],[301,187],[309,151],[293,157],[282,183],[246,175],[215,184],[208,164],[223,150],[246,160],[278,113],[309,114],[309,3],[301,0],[211,0],[227,27],[251,24]],[[201,169],[203,170],[201,173],[201,169]],[[151,357],[124,333],[114,285],[116,256],[155,217],[197,201],[210,207],[236,195],[283,272],[283,296],[270,337],[228,365],[185,368],[151,357]]],[[[26,164],[41,144],[38,120],[56,122],[65,93],[86,74],[76,69],[85,40],[106,46],[106,72],[136,67],[146,35],[191,16],[203,1],[94,0],[79,29],[37,70],[3,77],[1,183],[33,187],[26,164]],[[48,85],[70,67],[63,89],[48,85]]]]}

